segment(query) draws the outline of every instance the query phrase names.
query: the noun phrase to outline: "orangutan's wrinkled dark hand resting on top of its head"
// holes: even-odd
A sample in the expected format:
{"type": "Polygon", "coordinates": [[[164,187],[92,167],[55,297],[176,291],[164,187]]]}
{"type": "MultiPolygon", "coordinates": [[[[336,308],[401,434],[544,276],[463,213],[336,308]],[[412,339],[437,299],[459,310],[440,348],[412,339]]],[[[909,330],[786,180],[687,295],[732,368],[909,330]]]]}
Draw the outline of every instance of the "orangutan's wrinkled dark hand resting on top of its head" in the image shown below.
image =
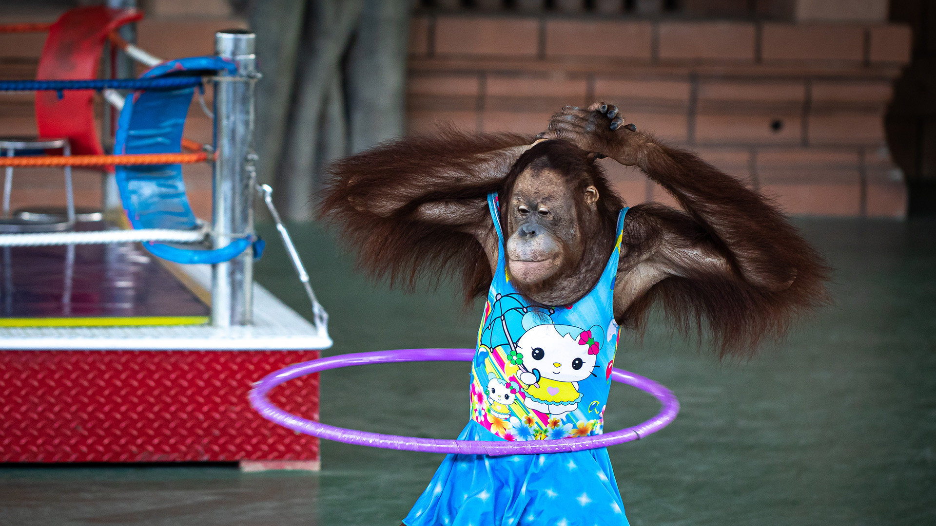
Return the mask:
{"type": "Polygon", "coordinates": [[[624,124],[617,106],[596,102],[582,110],[565,106],[549,119],[547,131],[537,139],[565,139],[597,157],[611,157],[622,165],[636,165],[650,140],[624,124]]]}

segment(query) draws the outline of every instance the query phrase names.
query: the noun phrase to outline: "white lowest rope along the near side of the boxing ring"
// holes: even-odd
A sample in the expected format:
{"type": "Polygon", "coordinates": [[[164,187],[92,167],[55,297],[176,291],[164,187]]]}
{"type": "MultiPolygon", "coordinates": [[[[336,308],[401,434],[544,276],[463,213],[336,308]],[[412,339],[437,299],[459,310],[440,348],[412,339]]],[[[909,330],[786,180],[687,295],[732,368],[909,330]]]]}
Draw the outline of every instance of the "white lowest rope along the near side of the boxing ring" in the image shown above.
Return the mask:
{"type": "Polygon", "coordinates": [[[92,232],[37,232],[0,234],[0,246],[40,246],[56,244],[99,244],[134,241],[166,241],[192,243],[205,239],[204,230],[172,230],[170,228],[139,228],[133,230],[103,230],[92,232]]]}

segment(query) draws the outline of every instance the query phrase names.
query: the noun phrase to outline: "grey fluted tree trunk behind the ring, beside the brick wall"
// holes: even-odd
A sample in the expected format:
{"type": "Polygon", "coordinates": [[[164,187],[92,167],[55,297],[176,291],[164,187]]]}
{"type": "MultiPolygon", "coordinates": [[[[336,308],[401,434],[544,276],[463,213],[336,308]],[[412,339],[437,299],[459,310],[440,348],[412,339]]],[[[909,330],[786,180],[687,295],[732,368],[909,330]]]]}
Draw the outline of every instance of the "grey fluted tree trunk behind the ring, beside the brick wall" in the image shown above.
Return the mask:
{"type": "Polygon", "coordinates": [[[404,131],[406,0],[257,0],[258,177],[307,220],[329,161],[404,131]]]}

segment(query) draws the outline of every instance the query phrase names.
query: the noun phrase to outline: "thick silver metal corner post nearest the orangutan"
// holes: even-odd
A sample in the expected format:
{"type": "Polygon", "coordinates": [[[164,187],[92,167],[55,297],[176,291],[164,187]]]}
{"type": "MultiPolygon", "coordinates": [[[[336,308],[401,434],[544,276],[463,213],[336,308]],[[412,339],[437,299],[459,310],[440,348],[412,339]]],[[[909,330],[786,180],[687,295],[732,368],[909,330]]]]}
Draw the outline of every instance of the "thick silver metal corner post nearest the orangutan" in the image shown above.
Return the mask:
{"type": "MultiPolygon", "coordinates": [[[[241,30],[214,34],[219,56],[237,64],[235,75],[221,73],[214,82],[213,173],[214,248],[254,234],[254,80],[256,56],[253,33],[241,30]]],[[[254,251],[246,251],[214,266],[212,325],[248,325],[253,314],[254,251]]]]}

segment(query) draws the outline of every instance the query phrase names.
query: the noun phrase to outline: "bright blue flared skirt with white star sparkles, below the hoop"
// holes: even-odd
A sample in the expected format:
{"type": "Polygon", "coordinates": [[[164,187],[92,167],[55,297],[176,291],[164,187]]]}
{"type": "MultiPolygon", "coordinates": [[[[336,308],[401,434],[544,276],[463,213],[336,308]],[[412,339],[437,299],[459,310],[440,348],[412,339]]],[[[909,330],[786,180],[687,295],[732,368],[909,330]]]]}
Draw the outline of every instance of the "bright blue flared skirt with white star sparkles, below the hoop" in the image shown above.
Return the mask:
{"type": "MultiPolygon", "coordinates": [[[[474,421],[459,440],[503,438],[474,421]]],[[[406,526],[627,526],[607,449],[447,455],[406,526]]]]}

